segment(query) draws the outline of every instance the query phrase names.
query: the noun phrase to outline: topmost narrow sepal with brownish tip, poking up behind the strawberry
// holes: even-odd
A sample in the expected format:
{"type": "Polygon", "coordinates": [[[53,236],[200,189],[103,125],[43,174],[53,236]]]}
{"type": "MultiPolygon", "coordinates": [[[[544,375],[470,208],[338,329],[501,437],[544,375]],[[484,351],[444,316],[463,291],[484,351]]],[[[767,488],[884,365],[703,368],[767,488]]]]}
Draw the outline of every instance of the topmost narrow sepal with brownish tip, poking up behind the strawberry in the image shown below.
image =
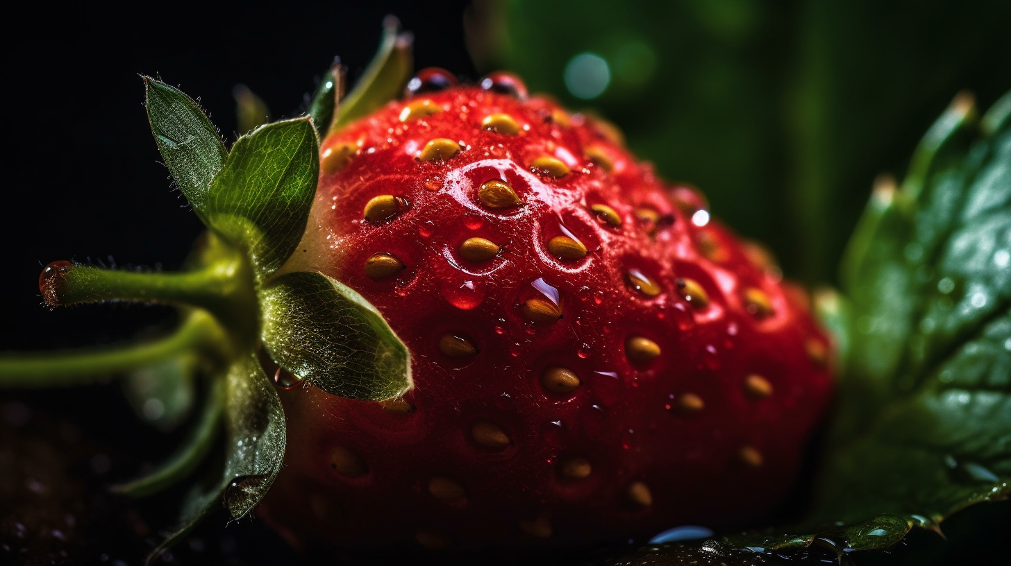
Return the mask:
{"type": "Polygon", "coordinates": [[[397,98],[413,71],[411,42],[413,37],[400,33],[400,22],[393,16],[383,19],[383,35],[379,51],[355,84],[348,96],[341,100],[330,131],[342,127],[378,110],[397,98]]]}

